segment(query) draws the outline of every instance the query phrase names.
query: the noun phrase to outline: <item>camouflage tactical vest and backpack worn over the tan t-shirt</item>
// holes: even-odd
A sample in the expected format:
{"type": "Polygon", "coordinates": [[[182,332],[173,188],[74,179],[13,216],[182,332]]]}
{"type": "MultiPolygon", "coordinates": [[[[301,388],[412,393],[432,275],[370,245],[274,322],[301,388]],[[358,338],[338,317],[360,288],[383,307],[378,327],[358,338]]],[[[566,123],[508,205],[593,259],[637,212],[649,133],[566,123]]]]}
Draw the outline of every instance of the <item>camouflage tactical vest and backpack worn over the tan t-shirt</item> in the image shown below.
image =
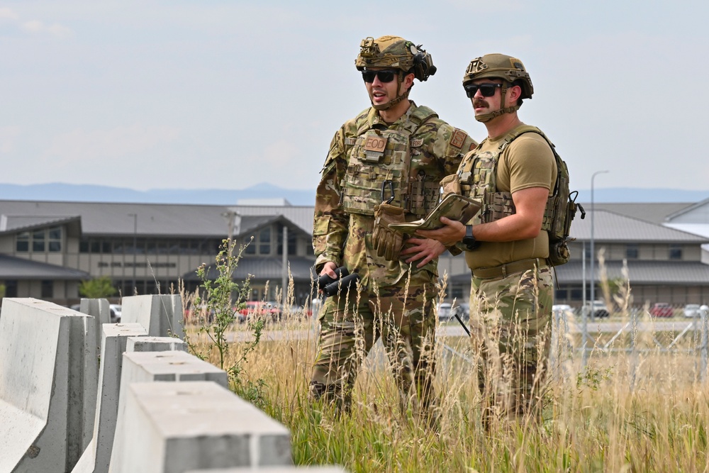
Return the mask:
{"type": "Polygon", "coordinates": [[[554,143],[549,141],[542,130],[535,126],[520,126],[506,135],[497,150],[472,152],[467,155],[458,171],[460,187],[464,195],[483,202],[479,213],[472,220],[473,225],[493,222],[516,213],[512,194],[497,190],[497,164],[510,143],[524,133],[541,135],[552,149],[554,160],[557,162],[557,180],[554,183],[552,196],[547,199],[542,230],[549,233],[547,262],[550,266],[563,265],[570,257],[568,242],[574,240],[569,238],[571,221],[574,220],[577,209],[581,211],[581,218],[586,216],[586,212],[580,204],[576,204],[576,196],[579,192],[569,192],[569,169],[566,167],[566,162],[557,154],[554,143]]]}

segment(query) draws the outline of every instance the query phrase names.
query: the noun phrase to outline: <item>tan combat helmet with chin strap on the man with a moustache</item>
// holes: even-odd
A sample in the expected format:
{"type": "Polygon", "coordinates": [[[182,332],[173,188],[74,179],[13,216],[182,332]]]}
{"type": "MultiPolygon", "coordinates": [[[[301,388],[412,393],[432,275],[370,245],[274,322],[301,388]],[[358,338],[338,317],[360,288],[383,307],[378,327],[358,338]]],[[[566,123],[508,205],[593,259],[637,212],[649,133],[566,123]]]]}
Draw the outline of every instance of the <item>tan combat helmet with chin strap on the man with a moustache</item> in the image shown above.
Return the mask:
{"type": "Polygon", "coordinates": [[[463,75],[463,87],[469,84],[469,82],[484,78],[503,79],[501,87],[502,103],[499,110],[476,116],[475,119],[477,121],[486,122],[496,116],[501,116],[503,113],[512,113],[520,108],[522,99],[531,99],[532,94],[534,94],[530,74],[527,72],[527,69],[525,69],[525,65],[522,64],[522,61],[518,60],[516,57],[498,53],[476,57],[470,62],[463,75]],[[518,81],[517,84],[522,89],[522,95],[516,106],[505,107],[505,93],[508,87],[515,81],[518,81]]]}

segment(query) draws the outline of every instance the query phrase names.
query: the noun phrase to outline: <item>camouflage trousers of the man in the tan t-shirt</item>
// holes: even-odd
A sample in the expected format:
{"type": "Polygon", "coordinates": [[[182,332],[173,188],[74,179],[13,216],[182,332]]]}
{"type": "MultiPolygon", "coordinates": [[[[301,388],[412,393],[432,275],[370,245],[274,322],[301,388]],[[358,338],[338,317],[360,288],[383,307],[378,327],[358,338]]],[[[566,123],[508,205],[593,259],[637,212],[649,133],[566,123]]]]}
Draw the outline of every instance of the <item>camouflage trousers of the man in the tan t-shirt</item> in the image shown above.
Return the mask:
{"type": "Polygon", "coordinates": [[[553,291],[552,270],[543,263],[506,277],[473,277],[470,328],[480,354],[484,421],[493,414],[536,417],[540,413],[553,291]]]}

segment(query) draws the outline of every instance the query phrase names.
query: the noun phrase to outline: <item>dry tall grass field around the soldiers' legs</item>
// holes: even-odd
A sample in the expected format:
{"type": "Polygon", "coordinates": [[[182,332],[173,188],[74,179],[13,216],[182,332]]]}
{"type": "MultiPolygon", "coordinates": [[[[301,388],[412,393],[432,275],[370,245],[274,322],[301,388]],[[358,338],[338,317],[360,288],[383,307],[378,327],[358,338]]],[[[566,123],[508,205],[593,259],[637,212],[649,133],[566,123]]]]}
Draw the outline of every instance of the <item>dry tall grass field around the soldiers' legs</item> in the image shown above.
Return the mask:
{"type": "MultiPolygon", "coordinates": [[[[300,315],[286,310],[284,321],[269,323],[242,365],[247,381],[264,382],[264,410],[290,428],[296,464],[341,464],[352,472],[709,472],[709,398],[698,355],[653,351],[655,334],[637,333],[635,352],[601,350],[629,347],[628,335],[598,335],[582,369],[581,339],[559,331],[542,421],[497,420],[489,430],[481,425],[470,340],[440,337],[440,426],[430,429],[399,414],[381,346],[364,360],[349,415],[311,403],[317,324],[300,315]]],[[[627,310],[623,318],[630,321],[627,310]]],[[[229,336],[250,335],[235,325],[229,336]]],[[[696,338],[683,343],[693,349],[696,338]]],[[[206,340],[198,345],[210,348],[206,340]]],[[[240,346],[234,342],[233,360],[240,346]]],[[[216,362],[213,350],[211,356],[216,362]]]]}

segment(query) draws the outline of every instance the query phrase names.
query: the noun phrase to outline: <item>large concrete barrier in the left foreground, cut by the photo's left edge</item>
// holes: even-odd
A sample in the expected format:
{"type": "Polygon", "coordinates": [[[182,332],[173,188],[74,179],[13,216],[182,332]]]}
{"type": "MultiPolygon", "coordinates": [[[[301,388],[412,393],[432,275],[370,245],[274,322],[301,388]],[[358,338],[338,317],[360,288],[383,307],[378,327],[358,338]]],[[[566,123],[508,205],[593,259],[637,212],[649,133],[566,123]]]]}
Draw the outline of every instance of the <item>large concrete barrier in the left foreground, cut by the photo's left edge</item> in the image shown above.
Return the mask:
{"type": "Polygon", "coordinates": [[[0,317],[0,473],[69,472],[91,440],[96,321],[38,299],[0,317]]]}

